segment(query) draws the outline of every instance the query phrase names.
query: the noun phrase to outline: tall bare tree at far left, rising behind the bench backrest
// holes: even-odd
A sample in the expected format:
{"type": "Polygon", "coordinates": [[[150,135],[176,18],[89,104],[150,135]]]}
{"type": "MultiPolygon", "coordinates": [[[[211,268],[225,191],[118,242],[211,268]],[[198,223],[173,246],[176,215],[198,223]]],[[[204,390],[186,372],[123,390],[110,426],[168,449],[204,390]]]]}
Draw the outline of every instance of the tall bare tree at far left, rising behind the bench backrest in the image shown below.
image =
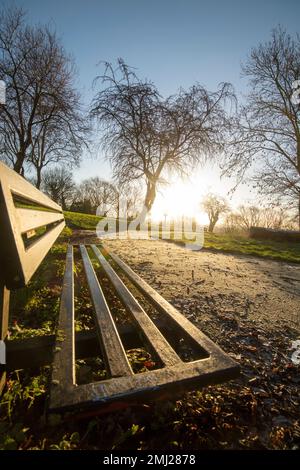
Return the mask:
{"type": "Polygon", "coordinates": [[[17,8],[0,16],[0,54],[0,80],[6,83],[0,155],[18,173],[31,162],[40,186],[48,163],[78,162],[85,126],[73,86],[74,64],[54,32],[27,26],[17,8]]]}

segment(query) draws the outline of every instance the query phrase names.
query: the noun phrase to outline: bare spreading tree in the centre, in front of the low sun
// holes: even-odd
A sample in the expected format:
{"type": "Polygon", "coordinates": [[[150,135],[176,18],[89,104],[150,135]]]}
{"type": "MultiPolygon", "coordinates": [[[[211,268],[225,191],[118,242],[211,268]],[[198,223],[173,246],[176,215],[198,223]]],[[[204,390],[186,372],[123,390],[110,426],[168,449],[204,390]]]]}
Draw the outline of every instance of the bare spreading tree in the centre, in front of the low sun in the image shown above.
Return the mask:
{"type": "Polygon", "coordinates": [[[147,211],[167,171],[187,174],[223,148],[229,123],[224,104],[234,96],[229,84],[214,93],[197,84],[162,99],[153,83],[140,80],[121,59],[116,70],[107,63],[98,79],[103,89],[90,114],[103,131],[114,177],[122,184],[146,183],[147,211]]]}

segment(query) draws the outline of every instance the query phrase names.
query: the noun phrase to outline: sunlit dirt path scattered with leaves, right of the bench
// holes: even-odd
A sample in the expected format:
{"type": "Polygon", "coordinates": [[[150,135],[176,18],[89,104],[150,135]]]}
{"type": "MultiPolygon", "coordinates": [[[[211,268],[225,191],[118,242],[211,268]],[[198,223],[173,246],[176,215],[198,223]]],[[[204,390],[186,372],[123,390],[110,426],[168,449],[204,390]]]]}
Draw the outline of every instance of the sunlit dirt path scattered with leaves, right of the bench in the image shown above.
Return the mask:
{"type": "Polygon", "coordinates": [[[269,331],[300,332],[298,265],[193,252],[164,241],[115,240],[106,245],[196,321],[223,315],[269,331]]]}

